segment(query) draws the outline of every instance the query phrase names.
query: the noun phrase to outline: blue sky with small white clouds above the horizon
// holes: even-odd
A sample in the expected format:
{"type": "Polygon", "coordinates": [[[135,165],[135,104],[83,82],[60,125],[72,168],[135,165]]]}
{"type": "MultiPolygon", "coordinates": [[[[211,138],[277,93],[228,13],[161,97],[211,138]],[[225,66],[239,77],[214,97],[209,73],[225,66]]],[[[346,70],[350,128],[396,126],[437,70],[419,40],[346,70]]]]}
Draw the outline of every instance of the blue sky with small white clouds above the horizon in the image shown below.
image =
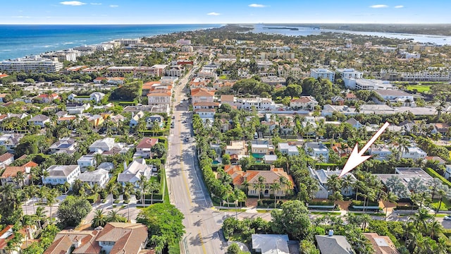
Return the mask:
{"type": "Polygon", "coordinates": [[[451,23],[449,0],[15,0],[0,24],[451,23]]]}

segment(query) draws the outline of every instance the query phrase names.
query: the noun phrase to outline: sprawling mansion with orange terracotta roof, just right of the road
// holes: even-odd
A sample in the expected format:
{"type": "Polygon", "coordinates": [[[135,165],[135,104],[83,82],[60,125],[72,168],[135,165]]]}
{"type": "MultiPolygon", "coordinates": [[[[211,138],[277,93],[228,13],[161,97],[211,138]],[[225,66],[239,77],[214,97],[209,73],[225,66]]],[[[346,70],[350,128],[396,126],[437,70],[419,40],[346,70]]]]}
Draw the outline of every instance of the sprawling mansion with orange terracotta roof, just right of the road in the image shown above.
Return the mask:
{"type": "Polygon", "coordinates": [[[269,197],[270,194],[275,194],[278,197],[285,197],[285,195],[293,189],[293,186],[295,186],[292,177],[287,174],[287,172],[283,171],[282,168],[275,168],[272,165],[269,171],[242,171],[240,165],[225,165],[224,171],[232,177],[233,186],[236,186],[237,188],[245,188],[245,186],[242,186],[242,183],[245,181],[249,183],[249,186],[247,186],[247,195],[258,196],[259,191],[261,191],[261,196],[264,197],[269,197]],[[260,176],[264,179],[264,188],[258,190],[254,187],[254,183],[258,183],[260,176]],[[276,193],[271,191],[271,184],[279,183],[280,179],[283,178],[287,181],[287,183],[281,184],[280,190],[277,190],[276,193]]]}

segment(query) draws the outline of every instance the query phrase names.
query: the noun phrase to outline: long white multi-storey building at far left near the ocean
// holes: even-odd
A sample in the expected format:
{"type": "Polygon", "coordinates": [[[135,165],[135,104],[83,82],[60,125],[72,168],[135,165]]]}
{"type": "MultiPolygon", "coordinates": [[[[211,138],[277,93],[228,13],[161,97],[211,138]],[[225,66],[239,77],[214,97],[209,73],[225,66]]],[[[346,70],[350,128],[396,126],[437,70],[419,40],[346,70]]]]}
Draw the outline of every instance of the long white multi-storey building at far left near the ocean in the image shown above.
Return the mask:
{"type": "Polygon", "coordinates": [[[50,59],[18,59],[0,62],[0,71],[8,73],[14,71],[56,73],[61,71],[63,67],[63,63],[50,59]]]}

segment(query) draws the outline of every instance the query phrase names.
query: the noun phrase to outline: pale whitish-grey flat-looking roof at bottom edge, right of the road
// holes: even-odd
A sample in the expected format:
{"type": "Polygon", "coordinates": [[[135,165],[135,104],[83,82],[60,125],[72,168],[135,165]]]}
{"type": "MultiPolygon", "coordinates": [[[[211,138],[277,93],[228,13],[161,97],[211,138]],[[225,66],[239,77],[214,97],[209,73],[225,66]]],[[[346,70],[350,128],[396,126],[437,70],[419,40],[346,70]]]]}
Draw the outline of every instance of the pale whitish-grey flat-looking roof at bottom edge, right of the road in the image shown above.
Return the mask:
{"type": "Polygon", "coordinates": [[[288,235],[252,234],[252,249],[261,250],[261,254],[290,254],[288,235]]]}

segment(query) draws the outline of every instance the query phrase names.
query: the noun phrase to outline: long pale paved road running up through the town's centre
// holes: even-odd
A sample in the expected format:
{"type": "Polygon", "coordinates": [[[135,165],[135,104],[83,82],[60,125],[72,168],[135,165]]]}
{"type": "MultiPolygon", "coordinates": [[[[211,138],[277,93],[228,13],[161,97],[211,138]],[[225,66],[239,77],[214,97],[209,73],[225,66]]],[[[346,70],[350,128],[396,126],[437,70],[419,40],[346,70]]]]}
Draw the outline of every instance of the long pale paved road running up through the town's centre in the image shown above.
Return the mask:
{"type": "Polygon", "coordinates": [[[175,87],[173,115],[175,127],[169,135],[168,165],[166,179],[171,203],[185,215],[183,224],[182,253],[226,253],[227,243],[220,236],[219,229],[223,214],[214,212],[209,193],[194,157],[195,141],[192,137],[190,111],[188,111],[185,84],[188,73],[175,87]],[[185,121],[185,123],[183,123],[185,121]],[[190,137],[185,141],[185,137],[190,137]]]}

